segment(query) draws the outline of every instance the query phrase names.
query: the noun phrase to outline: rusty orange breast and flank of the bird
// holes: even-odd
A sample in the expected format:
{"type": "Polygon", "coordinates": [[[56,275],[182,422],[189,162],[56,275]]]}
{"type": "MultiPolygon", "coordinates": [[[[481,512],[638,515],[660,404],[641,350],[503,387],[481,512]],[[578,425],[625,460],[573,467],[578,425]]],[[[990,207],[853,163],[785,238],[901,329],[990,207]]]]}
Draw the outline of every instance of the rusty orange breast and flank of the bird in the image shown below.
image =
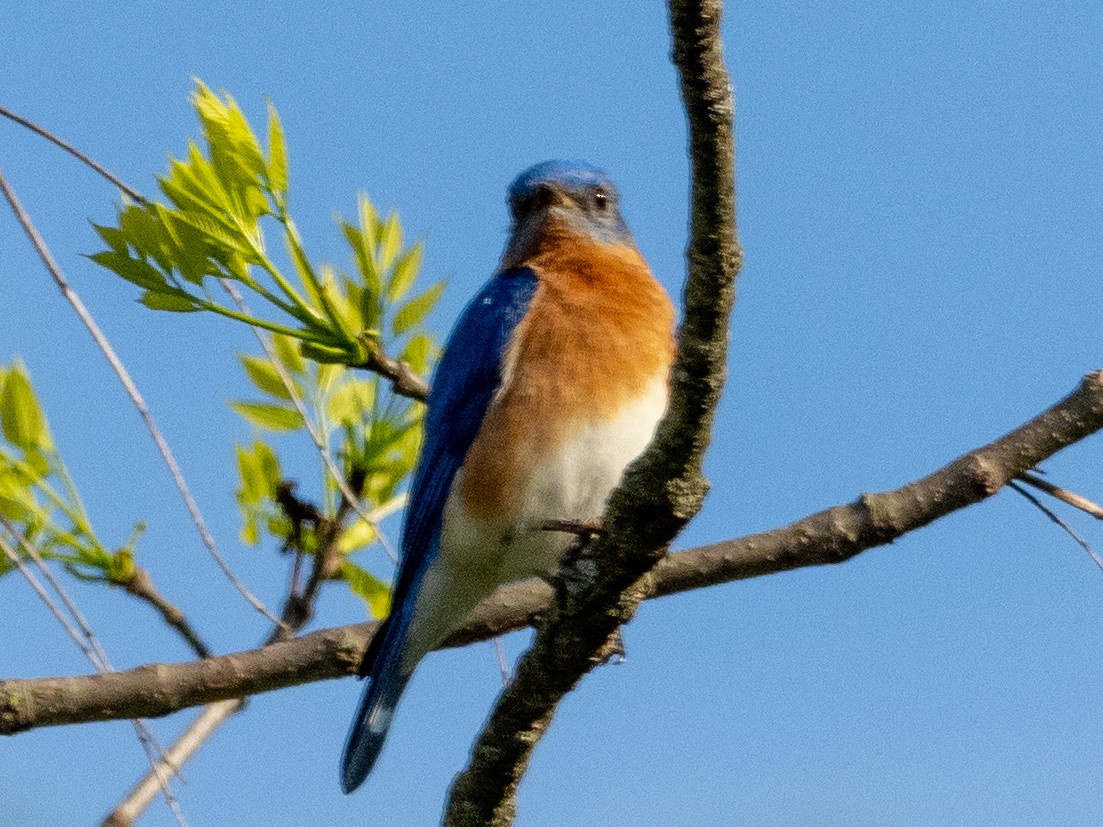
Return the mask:
{"type": "Polygon", "coordinates": [[[545,238],[507,262],[531,267],[539,283],[464,460],[460,494],[478,517],[515,513],[549,452],[644,396],[674,361],[674,308],[638,250],[565,227],[545,238]]]}

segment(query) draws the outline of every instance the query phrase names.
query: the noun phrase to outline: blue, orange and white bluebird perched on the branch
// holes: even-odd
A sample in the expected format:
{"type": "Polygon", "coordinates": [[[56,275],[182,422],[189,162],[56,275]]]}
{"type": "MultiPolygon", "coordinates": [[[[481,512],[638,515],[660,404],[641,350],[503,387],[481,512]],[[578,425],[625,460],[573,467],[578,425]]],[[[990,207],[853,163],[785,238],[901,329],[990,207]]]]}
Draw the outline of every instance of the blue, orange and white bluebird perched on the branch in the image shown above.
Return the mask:
{"type": "Polygon", "coordinates": [[[545,161],[508,189],[496,273],[461,313],[431,382],[392,610],[360,675],[341,784],[358,787],[415,667],[497,587],[554,576],[651,442],[675,354],[674,308],[609,175],[545,161]]]}

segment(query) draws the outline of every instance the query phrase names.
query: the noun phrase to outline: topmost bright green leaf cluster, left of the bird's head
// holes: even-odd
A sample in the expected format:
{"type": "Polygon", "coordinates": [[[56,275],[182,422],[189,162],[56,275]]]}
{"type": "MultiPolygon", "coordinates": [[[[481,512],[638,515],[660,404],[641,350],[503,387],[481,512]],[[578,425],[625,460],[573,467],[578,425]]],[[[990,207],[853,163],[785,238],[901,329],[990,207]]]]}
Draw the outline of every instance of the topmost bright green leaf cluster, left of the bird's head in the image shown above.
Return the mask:
{"type": "MultiPolygon", "coordinates": [[[[231,96],[196,80],[192,104],[204,149],[190,142],[184,158],[170,162],[158,179],[164,202],[127,202],[115,226],[95,225],[107,248],[94,261],[141,288],[139,300],[153,310],[210,311],[265,327],[298,340],[318,362],[370,365],[385,334],[401,335],[425,319],[443,284],[407,298],[422,244],[404,246],[396,213],[381,218],[361,197],[358,223],[339,219],[355,277],[315,266],[288,211],[287,148],[275,107],[268,106],[266,149],[231,96]],[[281,236],[290,268],[269,250],[266,225],[281,236]],[[216,298],[212,279],[240,284],[279,319],[216,298]],[[395,312],[385,330],[388,308],[395,312]]],[[[416,336],[406,350],[400,358],[411,366],[429,355],[416,336]]]]}

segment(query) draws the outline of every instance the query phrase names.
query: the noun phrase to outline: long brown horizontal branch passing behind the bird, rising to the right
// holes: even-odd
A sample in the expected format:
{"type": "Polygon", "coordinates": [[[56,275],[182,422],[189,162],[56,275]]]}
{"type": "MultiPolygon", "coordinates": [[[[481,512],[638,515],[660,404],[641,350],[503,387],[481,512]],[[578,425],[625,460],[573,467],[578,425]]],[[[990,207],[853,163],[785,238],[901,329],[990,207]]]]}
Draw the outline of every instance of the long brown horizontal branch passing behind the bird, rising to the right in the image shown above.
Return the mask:
{"type": "MultiPolygon", "coordinates": [[[[1020,428],[895,491],[864,494],[789,526],[665,557],[642,584],[646,598],[849,560],[979,503],[1008,482],[1103,429],[1103,370],[1020,428]]],[[[500,589],[446,642],[464,646],[532,625],[550,589],[500,589]]],[[[206,660],[147,665],[109,675],[0,680],[0,734],[38,727],[156,718],[188,707],[354,675],[377,623],[326,629],[206,660]]]]}

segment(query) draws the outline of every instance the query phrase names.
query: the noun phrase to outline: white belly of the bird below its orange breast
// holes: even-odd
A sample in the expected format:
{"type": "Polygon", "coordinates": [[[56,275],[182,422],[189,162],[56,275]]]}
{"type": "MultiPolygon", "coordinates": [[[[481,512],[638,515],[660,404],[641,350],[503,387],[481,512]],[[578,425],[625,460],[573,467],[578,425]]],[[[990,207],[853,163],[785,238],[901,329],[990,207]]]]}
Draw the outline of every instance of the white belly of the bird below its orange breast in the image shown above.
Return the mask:
{"type": "Polygon", "coordinates": [[[499,586],[555,573],[572,538],[542,526],[552,519],[601,517],[624,469],[651,442],[665,409],[666,383],[656,382],[617,419],[578,427],[527,475],[521,507],[508,518],[470,514],[457,494],[462,479],[457,476],[445,506],[440,554],[418,592],[407,644],[411,668],[499,586]]]}

